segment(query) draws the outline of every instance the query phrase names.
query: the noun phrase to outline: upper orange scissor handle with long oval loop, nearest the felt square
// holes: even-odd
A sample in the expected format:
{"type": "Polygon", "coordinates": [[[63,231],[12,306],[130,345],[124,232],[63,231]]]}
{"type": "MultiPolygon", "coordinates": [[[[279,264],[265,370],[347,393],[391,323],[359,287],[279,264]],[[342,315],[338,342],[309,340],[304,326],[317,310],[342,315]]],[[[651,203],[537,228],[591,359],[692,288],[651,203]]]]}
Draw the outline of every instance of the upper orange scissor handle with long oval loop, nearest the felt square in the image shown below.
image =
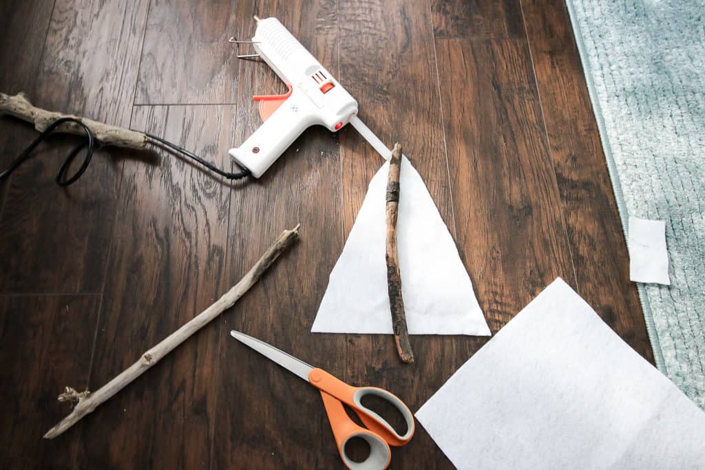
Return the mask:
{"type": "MultiPolygon", "coordinates": [[[[337,398],[341,402],[348,405],[355,411],[357,416],[360,416],[360,420],[367,426],[369,431],[379,435],[380,438],[384,439],[389,445],[400,446],[405,445],[411,440],[415,431],[415,421],[414,415],[411,413],[410,409],[399,400],[396,395],[384,390],[382,388],[376,387],[353,387],[347,383],[341,381],[340,379],[331,376],[328,372],[323,369],[312,369],[309,372],[309,382],[314,387],[321,390],[321,392],[326,392],[329,395],[337,398]],[[394,428],[379,414],[365,407],[362,404],[362,397],[365,395],[376,395],[387,402],[393,404],[393,406],[400,412],[406,421],[406,433],[400,435],[394,428]]],[[[325,401],[325,400],[324,400],[325,401]]],[[[341,406],[342,408],[342,406],[341,406]]],[[[327,407],[326,407],[327,409],[327,407]]],[[[347,421],[351,421],[345,410],[343,409],[343,416],[347,421]]],[[[333,423],[333,419],[340,421],[339,416],[331,416],[329,414],[329,419],[331,419],[331,426],[336,426],[333,423]]],[[[355,423],[353,423],[355,424],[355,423]]],[[[355,425],[357,426],[357,425],[355,425]]],[[[335,433],[335,431],[333,431],[335,433]]]]}

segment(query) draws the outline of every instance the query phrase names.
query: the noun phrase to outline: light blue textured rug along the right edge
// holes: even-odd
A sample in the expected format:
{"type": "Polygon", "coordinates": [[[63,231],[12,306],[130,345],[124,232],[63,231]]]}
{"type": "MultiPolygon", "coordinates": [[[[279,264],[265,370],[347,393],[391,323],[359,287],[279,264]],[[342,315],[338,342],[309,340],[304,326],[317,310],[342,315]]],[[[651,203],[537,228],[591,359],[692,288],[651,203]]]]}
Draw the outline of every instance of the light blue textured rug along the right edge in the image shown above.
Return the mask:
{"type": "Polygon", "coordinates": [[[666,221],[639,285],[659,369],[705,409],[705,1],[567,0],[625,231],[666,221]]]}

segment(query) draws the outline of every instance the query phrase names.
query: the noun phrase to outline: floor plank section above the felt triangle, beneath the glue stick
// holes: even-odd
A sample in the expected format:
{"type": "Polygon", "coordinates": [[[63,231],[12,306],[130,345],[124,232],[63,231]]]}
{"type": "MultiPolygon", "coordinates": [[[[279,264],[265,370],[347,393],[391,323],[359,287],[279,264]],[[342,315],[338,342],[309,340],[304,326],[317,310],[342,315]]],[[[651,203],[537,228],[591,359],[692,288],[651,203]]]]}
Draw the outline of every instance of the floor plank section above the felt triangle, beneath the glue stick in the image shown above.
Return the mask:
{"type": "MultiPolygon", "coordinates": [[[[360,118],[391,148],[400,142],[455,233],[431,18],[424,1],[340,3],[341,84],[360,118]],[[394,18],[394,20],[391,20],[394,18]],[[362,64],[371,64],[362,66],[362,64]]],[[[384,161],[352,127],[341,132],[344,232],[384,161]]]]}

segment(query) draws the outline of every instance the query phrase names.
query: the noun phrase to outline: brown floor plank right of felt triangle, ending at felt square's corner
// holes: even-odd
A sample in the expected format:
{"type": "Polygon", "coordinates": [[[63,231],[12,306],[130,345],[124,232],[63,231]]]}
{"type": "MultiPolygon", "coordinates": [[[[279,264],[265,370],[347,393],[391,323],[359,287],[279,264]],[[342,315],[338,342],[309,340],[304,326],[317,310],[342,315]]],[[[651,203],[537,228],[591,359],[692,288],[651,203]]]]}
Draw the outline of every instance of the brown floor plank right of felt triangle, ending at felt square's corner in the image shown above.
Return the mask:
{"type": "Polygon", "coordinates": [[[529,50],[514,39],[436,48],[458,242],[497,331],[557,276],[575,285],[529,50]]]}

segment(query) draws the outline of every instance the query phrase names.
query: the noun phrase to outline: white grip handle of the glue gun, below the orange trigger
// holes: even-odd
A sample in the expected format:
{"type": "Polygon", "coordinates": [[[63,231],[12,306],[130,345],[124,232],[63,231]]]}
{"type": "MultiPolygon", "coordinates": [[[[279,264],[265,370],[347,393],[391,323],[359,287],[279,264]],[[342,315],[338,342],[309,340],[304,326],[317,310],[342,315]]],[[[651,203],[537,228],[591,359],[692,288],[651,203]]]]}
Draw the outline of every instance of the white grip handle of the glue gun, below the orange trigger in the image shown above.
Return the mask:
{"type": "Polygon", "coordinates": [[[229,153],[240,166],[259,178],[314,123],[315,116],[306,108],[305,101],[292,94],[254,134],[229,153]]]}

